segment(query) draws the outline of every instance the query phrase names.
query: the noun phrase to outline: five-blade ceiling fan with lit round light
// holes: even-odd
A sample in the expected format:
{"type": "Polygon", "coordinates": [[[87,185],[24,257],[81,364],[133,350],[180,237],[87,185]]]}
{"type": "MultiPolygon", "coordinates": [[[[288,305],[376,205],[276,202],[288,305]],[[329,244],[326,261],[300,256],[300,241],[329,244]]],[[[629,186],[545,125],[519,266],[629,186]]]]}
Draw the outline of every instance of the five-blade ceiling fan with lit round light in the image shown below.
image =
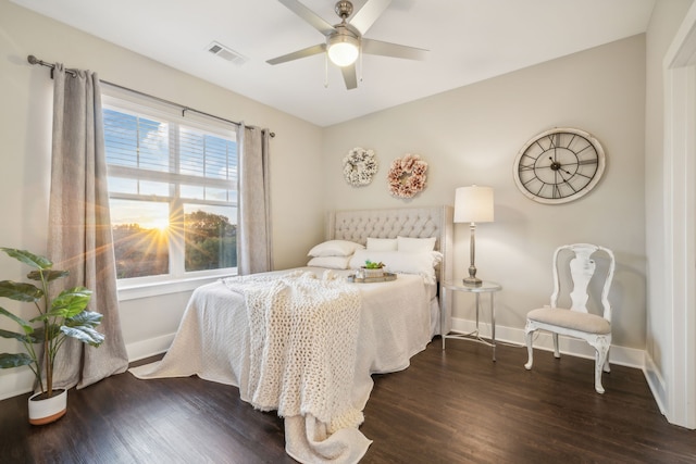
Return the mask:
{"type": "Polygon", "coordinates": [[[358,60],[360,53],[403,58],[408,60],[424,60],[427,53],[427,50],[363,37],[363,34],[372,27],[377,17],[380,17],[389,3],[391,3],[391,0],[368,0],[352,17],[350,17],[352,14],[352,3],[349,1],[338,1],[334,10],[338,17],[340,17],[340,23],[334,26],[298,0],[278,1],[326,36],[326,41],[268,60],[266,63],[269,64],[285,63],[326,52],[328,60],[340,67],[346,88],[350,90],[358,87],[356,60],[358,60]],[[350,21],[347,21],[348,17],[350,17],[350,21]]]}

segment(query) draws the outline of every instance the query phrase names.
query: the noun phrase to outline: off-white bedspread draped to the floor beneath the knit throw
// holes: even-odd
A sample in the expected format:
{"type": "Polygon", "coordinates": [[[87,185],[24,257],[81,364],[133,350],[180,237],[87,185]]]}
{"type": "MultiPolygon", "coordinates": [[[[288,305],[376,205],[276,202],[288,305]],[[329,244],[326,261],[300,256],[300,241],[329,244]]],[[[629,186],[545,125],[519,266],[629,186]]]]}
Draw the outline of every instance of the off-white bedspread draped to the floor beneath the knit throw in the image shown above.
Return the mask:
{"type": "MultiPolygon", "coordinates": [[[[371,374],[403,369],[413,354],[425,349],[431,339],[431,306],[419,276],[399,275],[395,281],[349,287],[362,302],[350,389],[352,407],[361,412],[372,391],[371,374]]],[[[198,375],[237,386],[240,398],[254,404],[254,391],[249,388],[256,375],[250,364],[253,343],[245,305],[245,297],[222,281],[200,287],[162,361],[130,372],[139,378],[198,375]]],[[[285,423],[286,451],[303,463],[355,463],[371,443],[357,425],[333,430],[313,414],[285,415],[285,423]]]]}

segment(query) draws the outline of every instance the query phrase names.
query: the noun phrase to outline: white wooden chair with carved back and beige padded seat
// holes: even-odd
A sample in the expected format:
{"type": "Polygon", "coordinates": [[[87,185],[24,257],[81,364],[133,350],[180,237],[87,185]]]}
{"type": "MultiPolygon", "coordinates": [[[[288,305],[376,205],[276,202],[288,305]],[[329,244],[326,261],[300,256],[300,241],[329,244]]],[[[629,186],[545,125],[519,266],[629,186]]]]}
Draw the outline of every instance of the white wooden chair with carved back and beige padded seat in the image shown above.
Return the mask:
{"type": "Polygon", "coordinates": [[[566,335],[581,338],[587,341],[596,350],[595,355],[595,390],[604,393],[601,386],[601,371],[609,372],[609,348],[611,347],[611,305],[607,296],[613,279],[614,258],[611,250],[589,243],[566,244],[556,249],[554,253],[554,293],[550,306],[532,310],[526,315],[524,336],[529,352],[529,360],[524,367],[529,371],[533,363],[532,340],[534,331],[548,330],[552,333],[554,356],[560,358],[558,349],[558,336],[566,335]],[[560,294],[559,253],[569,250],[574,253],[569,262],[569,273],[573,281],[570,292],[571,308],[558,308],[560,294]],[[596,251],[604,251],[609,256],[609,267],[601,290],[601,315],[587,311],[586,303],[589,298],[588,286],[595,274],[596,263],[592,255],[596,251]]]}

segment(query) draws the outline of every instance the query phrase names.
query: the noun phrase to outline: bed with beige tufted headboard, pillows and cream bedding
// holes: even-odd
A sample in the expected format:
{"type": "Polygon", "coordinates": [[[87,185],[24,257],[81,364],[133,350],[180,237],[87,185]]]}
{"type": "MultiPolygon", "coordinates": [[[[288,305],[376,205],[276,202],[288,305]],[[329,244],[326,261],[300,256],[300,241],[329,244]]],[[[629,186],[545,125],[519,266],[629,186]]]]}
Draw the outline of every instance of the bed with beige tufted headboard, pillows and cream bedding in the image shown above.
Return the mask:
{"type": "Polygon", "coordinates": [[[437,289],[451,277],[452,210],[332,212],[325,237],[307,267],[195,290],[162,361],[130,372],[236,386],[244,401],[285,418],[295,460],[360,461],[371,443],[359,430],[371,375],[407,368],[440,333],[437,289]],[[428,272],[426,256],[435,258],[428,272]],[[385,262],[396,279],[350,283],[365,258],[385,262]]]}

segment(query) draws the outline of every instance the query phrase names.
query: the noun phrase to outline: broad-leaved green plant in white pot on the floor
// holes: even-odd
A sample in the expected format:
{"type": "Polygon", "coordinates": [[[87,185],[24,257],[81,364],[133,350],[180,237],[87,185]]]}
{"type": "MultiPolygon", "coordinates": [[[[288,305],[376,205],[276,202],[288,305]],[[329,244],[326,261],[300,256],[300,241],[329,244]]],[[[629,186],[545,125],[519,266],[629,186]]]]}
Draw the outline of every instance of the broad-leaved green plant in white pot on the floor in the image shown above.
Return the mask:
{"type": "Polygon", "coordinates": [[[91,290],[85,287],[63,290],[51,298],[49,285],[67,276],[67,271],[53,269],[51,261],[26,250],[0,250],[33,267],[34,271],[27,274],[27,278],[38,281],[38,287],[12,280],[0,281],[0,297],[34,303],[36,308],[36,316],[28,321],[0,308],[0,315],[11,318],[22,329],[18,333],[0,329],[0,337],[18,340],[26,351],[0,353],[0,368],[28,366],[32,369],[38,391],[28,401],[29,423],[48,424],[62,417],[67,406],[67,391],[53,389],[55,355],[67,337],[99,347],[104,341],[104,336],[95,327],[101,322],[102,315],[86,311],[91,290]]]}

